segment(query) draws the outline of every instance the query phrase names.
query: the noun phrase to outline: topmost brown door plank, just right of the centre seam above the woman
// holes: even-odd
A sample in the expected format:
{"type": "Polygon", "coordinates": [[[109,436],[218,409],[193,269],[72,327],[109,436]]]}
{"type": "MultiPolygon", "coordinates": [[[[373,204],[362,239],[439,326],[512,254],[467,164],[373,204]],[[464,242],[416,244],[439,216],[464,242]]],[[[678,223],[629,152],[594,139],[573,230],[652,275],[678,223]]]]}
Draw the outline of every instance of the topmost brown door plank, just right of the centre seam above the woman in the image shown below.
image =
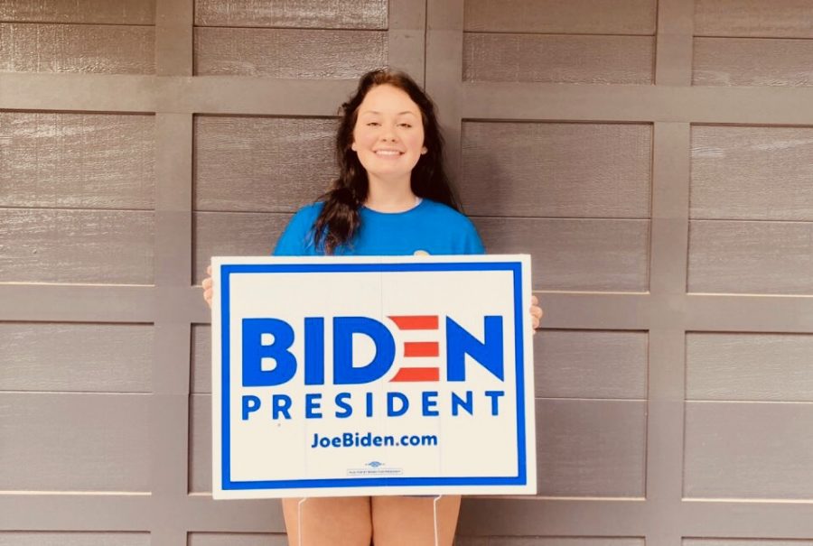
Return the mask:
{"type": "Polygon", "coordinates": [[[466,0],[470,32],[655,34],[656,0],[466,0]]]}

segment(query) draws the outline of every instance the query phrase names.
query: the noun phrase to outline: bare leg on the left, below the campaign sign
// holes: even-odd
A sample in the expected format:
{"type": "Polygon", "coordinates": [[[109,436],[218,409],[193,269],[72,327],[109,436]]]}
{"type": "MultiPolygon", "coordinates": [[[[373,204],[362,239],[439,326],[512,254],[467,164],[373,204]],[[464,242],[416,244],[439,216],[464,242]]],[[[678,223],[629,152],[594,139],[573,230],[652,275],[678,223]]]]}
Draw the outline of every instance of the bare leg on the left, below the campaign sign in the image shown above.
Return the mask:
{"type": "Polygon", "coordinates": [[[308,498],[302,504],[301,520],[300,500],[283,499],[285,528],[290,546],[369,546],[372,533],[369,496],[308,498]]]}

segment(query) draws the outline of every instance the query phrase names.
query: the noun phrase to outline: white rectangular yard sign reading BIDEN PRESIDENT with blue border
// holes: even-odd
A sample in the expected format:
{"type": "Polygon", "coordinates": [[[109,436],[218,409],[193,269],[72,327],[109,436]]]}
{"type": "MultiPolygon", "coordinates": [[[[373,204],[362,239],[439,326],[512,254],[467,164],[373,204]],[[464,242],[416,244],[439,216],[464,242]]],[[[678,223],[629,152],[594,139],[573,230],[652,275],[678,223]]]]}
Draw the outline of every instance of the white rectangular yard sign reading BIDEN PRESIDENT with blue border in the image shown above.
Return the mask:
{"type": "Polygon", "coordinates": [[[212,264],[215,498],[536,493],[528,255],[212,264]]]}

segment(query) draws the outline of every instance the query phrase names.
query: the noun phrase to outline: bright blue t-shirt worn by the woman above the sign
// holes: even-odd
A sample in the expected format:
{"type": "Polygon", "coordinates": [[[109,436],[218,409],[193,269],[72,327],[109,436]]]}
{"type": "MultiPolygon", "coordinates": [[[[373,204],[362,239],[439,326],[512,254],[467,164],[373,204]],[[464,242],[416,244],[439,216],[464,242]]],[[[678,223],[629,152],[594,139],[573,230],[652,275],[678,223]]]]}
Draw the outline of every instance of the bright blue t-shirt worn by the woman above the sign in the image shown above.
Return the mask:
{"type": "MultiPolygon", "coordinates": [[[[322,203],[301,208],[274,249],[277,256],[324,254],[313,245],[313,222],[322,203]]],[[[480,236],[472,221],[451,207],[423,199],[404,212],[377,212],[362,207],[361,227],[350,241],[336,249],[336,255],[483,254],[480,236]]]]}

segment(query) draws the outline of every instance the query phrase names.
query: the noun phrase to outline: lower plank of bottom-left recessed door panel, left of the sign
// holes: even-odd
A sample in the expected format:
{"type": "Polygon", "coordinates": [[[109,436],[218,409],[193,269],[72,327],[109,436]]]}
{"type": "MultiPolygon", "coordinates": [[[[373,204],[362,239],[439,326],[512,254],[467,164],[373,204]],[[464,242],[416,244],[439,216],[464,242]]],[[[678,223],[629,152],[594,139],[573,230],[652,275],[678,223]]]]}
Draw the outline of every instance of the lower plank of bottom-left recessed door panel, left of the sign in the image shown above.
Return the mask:
{"type": "Polygon", "coordinates": [[[9,491],[149,491],[146,394],[0,393],[9,491]]]}

